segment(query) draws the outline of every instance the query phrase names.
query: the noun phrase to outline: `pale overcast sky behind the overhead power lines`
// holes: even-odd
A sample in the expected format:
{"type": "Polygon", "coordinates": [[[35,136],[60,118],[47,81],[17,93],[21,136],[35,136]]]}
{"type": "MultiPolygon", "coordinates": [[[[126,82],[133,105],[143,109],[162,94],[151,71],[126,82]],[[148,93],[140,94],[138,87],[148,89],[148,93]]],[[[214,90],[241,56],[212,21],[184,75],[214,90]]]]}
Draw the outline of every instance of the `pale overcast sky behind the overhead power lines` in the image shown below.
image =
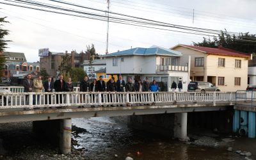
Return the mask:
{"type": "MultiPolygon", "coordinates": [[[[39,0],[35,0],[39,1],[39,0]]],[[[7,2],[0,0],[0,2],[7,2]]],[[[83,8],[61,5],[44,0],[43,3],[56,4],[84,12],[83,8]]],[[[83,6],[107,9],[106,0],[68,1],[83,6]]],[[[8,3],[8,2],[7,2],[8,3]]],[[[158,20],[170,24],[207,29],[227,29],[232,32],[255,34],[256,1],[254,0],[110,0],[110,11],[158,20]],[[195,19],[193,23],[193,10],[195,19]]],[[[38,49],[49,48],[52,52],[86,51],[86,45],[95,45],[96,52],[105,54],[107,22],[86,18],[59,15],[42,11],[0,4],[0,17],[7,17],[10,30],[6,40],[6,51],[24,52],[27,61],[39,61],[38,49]]],[[[97,12],[99,13],[99,12],[97,12]]],[[[170,28],[172,29],[172,28],[170,28]]],[[[200,35],[189,35],[173,31],[141,28],[124,24],[109,23],[108,51],[116,52],[131,47],[150,47],[159,45],[170,48],[177,44],[201,42],[200,35]]]]}

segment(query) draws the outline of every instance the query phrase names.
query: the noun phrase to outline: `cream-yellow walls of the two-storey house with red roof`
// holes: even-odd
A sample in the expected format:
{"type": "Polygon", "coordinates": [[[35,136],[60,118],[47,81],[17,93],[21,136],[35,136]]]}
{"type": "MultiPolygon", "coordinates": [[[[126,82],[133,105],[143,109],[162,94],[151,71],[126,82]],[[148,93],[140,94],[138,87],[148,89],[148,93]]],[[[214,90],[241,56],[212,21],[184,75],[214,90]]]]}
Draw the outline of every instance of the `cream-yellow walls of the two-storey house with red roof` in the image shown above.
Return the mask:
{"type": "Polygon", "coordinates": [[[191,56],[190,77],[204,76],[204,81],[207,81],[207,77],[212,76],[212,83],[216,84],[216,86],[218,86],[218,77],[225,77],[224,86],[218,86],[223,92],[235,92],[236,90],[246,89],[248,77],[248,60],[246,58],[216,55],[207,56],[204,52],[181,46],[173,50],[191,56]],[[195,67],[196,57],[204,57],[204,67],[195,67]],[[225,58],[225,67],[218,67],[218,58],[225,58]],[[235,67],[235,60],[241,60],[241,68],[235,67]],[[241,77],[240,86],[234,85],[235,77],[241,77]]]}

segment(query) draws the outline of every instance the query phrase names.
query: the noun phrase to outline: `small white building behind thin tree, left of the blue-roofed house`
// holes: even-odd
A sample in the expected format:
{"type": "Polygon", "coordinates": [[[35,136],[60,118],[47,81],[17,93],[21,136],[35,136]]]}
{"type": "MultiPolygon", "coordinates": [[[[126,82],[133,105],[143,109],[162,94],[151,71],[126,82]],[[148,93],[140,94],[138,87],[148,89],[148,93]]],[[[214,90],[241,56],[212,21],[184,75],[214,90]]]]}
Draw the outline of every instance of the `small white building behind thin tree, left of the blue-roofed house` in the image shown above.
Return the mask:
{"type": "Polygon", "coordinates": [[[106,68],[106,59],[93,60],[92,65],[89,60],[85,60],[82,66],[90,79],[97,79],[97,74],[94,71],[106,68]]]}

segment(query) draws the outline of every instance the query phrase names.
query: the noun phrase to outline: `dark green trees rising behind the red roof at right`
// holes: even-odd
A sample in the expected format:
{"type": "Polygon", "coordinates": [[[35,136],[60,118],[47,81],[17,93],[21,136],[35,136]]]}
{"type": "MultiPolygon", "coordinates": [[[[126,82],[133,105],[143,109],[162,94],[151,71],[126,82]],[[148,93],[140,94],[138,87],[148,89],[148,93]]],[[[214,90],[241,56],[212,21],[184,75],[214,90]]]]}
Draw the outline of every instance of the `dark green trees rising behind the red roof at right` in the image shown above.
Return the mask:
{"type": "Polygon", "coordinates": [[[210,38],[203,42],[195,43],[195,46],[201,47],[214,47],[217,48],[219,45],[228,49],[233,49],[240,52],[255,53],[256,52],[256,35],[249,33],[239,33],[239,35],[230,35],[227,30],[221,31],[218,37],[214,37],[213,40],[210,38]]]}

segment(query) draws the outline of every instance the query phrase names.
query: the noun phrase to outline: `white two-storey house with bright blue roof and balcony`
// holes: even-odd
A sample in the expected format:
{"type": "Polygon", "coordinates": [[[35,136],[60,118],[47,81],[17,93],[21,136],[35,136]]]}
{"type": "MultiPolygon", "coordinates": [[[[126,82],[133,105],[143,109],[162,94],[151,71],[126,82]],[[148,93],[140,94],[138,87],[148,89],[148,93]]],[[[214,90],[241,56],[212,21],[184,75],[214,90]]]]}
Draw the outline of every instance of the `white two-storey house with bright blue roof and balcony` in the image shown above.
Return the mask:
{"type": "Polygon", "coordinates": [[[179,51],[154,46],[137,47],[102,57],[106,58],[106,74],[122,74],[125,83],[128,77],[134,81],[148,78],[150,82],[156,79],[164,83],[167,91],[171,90],[173,81],[182,81],[184,91],[188,88],[189,58],[181,58],[179,51]]]}

